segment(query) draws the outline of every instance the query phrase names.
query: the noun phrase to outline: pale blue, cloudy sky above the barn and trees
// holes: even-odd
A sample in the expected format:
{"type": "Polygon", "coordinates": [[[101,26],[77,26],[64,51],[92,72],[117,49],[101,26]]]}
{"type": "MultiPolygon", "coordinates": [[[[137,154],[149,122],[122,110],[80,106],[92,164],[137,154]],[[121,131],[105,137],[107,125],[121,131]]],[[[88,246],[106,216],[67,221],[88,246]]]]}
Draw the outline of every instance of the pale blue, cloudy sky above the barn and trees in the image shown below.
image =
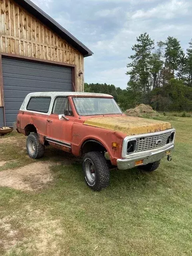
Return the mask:
{"type": "Polygon", "coordinates": [[[84,81],[126,88],[136,37],[155,42],[192,38],[192,0],[32,0],[94,54],[84,58],[84,81]]]}

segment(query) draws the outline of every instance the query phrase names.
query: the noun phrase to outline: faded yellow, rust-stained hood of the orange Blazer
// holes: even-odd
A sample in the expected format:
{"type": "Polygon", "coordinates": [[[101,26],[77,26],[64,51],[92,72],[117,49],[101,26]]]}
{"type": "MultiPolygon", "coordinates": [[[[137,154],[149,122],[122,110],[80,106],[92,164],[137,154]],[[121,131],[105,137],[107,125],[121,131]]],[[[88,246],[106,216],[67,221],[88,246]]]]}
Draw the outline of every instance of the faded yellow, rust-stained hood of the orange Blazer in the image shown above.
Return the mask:
{"type": "Polygon", "coordinates": [[[116,132],[123,132],[128,136],[160,132],[172,128],[169,122],[125,115],[88,118],[84,124],[116,132]]]}

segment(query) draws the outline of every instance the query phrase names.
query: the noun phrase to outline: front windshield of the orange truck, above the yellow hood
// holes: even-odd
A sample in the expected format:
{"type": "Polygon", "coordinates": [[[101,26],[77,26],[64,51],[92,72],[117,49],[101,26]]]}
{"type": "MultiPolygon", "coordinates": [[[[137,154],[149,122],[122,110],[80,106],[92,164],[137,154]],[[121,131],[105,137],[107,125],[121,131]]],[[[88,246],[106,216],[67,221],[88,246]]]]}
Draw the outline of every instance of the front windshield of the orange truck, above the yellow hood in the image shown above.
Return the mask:
{"type": "Polygon", "coordinates": [[[73,102],[80,116],[122,114],[113,98],[74,97],[73,102]]]}

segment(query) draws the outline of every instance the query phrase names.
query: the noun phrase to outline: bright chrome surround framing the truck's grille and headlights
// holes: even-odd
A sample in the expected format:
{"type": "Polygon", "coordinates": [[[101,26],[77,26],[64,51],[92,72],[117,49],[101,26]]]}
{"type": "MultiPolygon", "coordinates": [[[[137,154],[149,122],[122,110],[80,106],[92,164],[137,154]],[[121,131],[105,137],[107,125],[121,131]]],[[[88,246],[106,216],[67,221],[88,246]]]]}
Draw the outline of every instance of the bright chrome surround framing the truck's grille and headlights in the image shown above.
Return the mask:
{"type": "MultiPolygon", "coordinates": [[[[145,150],[145,151],[133,152],[133,153],[127,154],[127,144],[128,144],[129,141],[140,138],[140,137],[156,136],[156,135],[164,134],[166,132],[175,132],[175,129],[171,128],[171,129],[160,131],[160,132],[150,132],[150,133],[137,134],[137,135],[132,135],[132,136],[125,137],[124,140],[123,140],[123,145],[122,145],[122,158],[127,158],[128,156],[133,155],[133,154],[138,155],[138,154],[141,154],[142,152],[143,153],[147,153],[147,152],[150,153],[150,152],[153,152],[155,150],[158,150],[158,148],[155,148],[155,149],[151,149],[151,150],[145,150]]],[[[175,134],[174,134],[173,141],[170,142],[167,145],[171,146],[172,144],[174,144],[174,139],[175,139],[175,134]]]]}

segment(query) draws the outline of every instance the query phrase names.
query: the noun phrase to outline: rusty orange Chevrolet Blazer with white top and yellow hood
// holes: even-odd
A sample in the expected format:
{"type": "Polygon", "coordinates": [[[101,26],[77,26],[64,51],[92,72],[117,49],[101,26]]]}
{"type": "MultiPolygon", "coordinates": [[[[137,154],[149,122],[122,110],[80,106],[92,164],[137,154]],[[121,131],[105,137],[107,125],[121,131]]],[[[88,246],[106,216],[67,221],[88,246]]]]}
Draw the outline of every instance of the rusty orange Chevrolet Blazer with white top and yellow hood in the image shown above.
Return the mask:
{"type": "Polygon", "coordinates": [[[126,116],[113,96],[84,92],[28,94],[17,131],[28,136],[31,158],[50,145],[82,156],[85,181],[97,191],[108,186],[110,166],[151,172],[164,156],[170,161],[175,138],[169,122],[126,116]]]}

